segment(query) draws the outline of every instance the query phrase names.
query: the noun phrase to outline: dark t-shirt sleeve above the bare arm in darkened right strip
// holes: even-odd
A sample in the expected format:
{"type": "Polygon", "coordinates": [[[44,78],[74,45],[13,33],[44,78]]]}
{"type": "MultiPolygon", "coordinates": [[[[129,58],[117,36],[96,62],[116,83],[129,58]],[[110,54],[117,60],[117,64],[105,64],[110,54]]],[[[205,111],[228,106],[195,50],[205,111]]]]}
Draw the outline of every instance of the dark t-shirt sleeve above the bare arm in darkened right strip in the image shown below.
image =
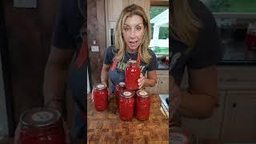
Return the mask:
{"type": "Polygon", "coordinates": [[[202,2],[195,1],[195,3],[191,4],[191,9],[201,19],[203,27],[199,32],[198,42],[194,50],[191,51],[187,66],[200,69],[216,65],[222,55],[222,43],[214,16],[202,2]]]}

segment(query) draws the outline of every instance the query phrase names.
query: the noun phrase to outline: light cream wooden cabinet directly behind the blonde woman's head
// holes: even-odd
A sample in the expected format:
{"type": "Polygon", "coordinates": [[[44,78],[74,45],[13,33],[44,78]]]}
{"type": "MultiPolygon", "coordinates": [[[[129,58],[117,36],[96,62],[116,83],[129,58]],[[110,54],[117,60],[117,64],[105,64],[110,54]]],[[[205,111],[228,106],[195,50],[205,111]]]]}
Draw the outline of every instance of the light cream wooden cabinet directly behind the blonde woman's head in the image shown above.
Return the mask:
{"type": "Polygon", "coordinates": [[[106,46],[110,46],[114,42],[114,28],[122,9],[133,3],[142,6],[148,17],[150,16],[150,1],[148,0],[105,0],[106,46]]]}

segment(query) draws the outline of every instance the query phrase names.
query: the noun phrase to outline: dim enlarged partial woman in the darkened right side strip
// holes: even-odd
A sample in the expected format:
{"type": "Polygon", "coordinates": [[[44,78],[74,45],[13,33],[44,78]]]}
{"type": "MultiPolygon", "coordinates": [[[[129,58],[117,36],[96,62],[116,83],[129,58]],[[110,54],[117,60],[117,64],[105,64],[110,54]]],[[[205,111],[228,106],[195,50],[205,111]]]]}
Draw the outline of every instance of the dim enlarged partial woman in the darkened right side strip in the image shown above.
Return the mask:
{"type": "Polygon", "coordinates": [[[178,123],[181,116],[209,118],[218,104],[216,65],[221,56],[221,41],[213,14],[199,0],[173,0],[170,30],[170,75],[174,78],[170,80],[170,112],[177,109],[171,121],[178,123]],[[189,87],[180,90],[185,67],[189,87]]]}

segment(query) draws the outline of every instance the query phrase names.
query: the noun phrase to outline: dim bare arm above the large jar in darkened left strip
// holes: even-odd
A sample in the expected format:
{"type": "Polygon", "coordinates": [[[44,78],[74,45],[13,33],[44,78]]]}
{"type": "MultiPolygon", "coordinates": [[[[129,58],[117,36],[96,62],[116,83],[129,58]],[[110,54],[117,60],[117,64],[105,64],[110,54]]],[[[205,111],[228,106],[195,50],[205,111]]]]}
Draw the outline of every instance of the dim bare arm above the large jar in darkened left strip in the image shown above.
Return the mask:
{"type": "Polygon", "coordinates": [[[43,95],[46,106],[63,112],[70,62],[74,50],[61,50],[52,46],[44,71],[43,95]]]}

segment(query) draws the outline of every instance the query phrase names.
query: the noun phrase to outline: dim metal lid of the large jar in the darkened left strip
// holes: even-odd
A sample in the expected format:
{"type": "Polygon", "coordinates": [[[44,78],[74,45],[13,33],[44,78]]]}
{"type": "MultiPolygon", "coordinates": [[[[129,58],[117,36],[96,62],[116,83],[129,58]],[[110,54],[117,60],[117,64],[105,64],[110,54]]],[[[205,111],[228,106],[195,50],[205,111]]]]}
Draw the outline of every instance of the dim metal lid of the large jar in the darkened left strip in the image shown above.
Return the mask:
{"type": "Polygon", "coordinates": [[[54,109],[32,109],[26,110],[20,117],[20,122],[25,126],[43,127],[59,122],[61,114],[54,109]]]}

